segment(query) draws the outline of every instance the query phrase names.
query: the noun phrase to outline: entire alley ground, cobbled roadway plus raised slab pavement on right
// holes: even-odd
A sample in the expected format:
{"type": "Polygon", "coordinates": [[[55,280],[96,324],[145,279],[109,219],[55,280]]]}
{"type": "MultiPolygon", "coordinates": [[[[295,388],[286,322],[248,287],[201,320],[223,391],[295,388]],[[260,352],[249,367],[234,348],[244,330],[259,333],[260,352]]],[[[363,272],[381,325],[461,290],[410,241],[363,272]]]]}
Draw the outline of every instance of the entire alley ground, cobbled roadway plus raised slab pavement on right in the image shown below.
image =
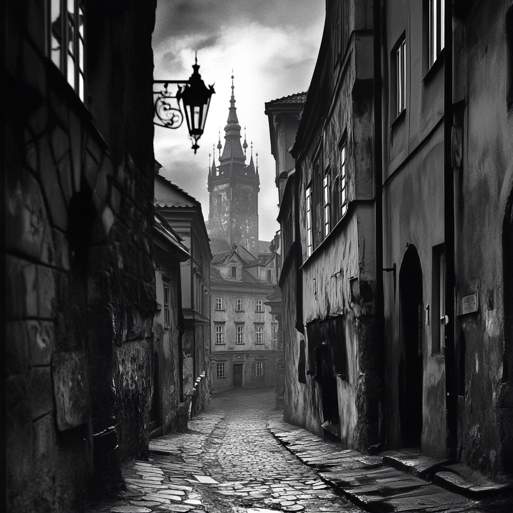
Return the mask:
{"type": "Polygon", "coordinates": [[[148,459],[125,465],[119,500],[88,513],[508,511],[505,498],[470,500],[286,424],[274,399],[271,388],[214,394],[187,432],[151,440],[148,459]]]}

